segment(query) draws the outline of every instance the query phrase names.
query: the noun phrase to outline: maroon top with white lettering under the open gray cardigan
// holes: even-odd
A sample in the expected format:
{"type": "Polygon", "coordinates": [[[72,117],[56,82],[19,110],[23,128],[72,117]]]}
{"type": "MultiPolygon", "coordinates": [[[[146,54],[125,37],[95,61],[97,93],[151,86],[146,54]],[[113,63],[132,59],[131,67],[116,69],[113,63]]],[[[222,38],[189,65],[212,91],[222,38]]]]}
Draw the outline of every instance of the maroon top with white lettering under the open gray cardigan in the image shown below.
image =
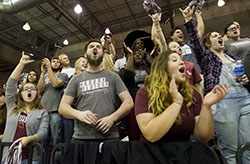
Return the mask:
{"type": "MultiPolygon", "coordinates": [[[[18,118],[17,129],[13,142],[21,137],[27,136],[26,120],[27,120],[27,114],[22,112],[18,118]]],[[[29,148],[26,146],[25,148],[22,149],[22,159],[28,159],[28,157],[29,157],[29,148]]]]}

